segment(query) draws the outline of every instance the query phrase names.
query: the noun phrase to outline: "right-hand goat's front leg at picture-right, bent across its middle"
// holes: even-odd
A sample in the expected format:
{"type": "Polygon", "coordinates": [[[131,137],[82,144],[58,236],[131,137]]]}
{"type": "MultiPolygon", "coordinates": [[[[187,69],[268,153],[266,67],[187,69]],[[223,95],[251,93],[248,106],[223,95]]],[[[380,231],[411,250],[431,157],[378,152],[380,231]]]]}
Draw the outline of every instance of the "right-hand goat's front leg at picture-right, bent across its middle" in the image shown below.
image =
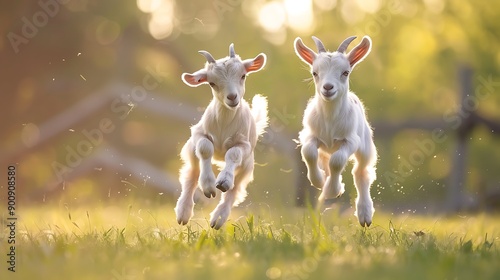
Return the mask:
{"type": "Polygon", "coordinates": [[[319,196],[319,201],[341,196],[344,191],[344,183],[342,183],[341,173],[344,170],[349,157],[355,152],[358,147],[359,140],[341,140],[340,146],[335,151],[328,161],[330,176],[326,179],[323,191],[319,196]]]}

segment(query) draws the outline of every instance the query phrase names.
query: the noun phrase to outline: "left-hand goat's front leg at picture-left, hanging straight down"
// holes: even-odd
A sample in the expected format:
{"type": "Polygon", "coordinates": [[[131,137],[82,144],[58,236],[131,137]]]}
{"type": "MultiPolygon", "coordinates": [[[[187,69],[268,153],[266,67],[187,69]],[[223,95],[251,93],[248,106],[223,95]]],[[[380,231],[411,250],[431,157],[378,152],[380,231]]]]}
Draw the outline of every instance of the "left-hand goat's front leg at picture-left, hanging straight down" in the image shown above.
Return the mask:
{"type": "Polygon", "coordinates": [[[201,137],[196,142],[196,156],[200,159],[199,183],[206,197],[215,197],[215,175],[212,171],[212,157],[214,145],[206,137],[201,137]]]}

